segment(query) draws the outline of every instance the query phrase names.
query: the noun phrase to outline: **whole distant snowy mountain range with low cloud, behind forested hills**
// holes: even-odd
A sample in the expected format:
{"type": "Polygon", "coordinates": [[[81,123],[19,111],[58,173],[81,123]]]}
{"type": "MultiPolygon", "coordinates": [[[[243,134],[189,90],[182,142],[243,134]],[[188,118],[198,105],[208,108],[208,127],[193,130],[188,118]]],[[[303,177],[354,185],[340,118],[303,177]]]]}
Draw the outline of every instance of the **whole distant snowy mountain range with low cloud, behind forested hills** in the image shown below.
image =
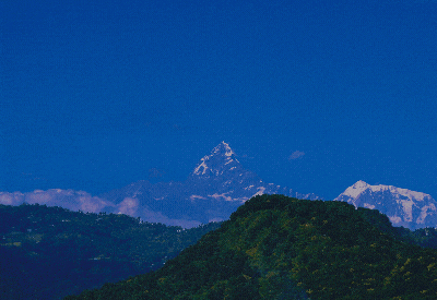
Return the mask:
{"type": "MultiPolygon", "coordinates": [[[[245,169],[229,145],[222,142],[200,159],[185,181],[151,183],[140,180],[98,196],[59,189],[0,192],[0,204],[39,203],[71,211],[121,213],[150,223],[191,228],[225,220],[245,201],[260,194],[322,200],[314,193],[298,193],[291,188],[264,182],[245,169]]],[[[378,209],[387,214],[394,226],[416,229],[437,225],[437,203],[421,192],[358,181],[335,201],[378,209]]]]}

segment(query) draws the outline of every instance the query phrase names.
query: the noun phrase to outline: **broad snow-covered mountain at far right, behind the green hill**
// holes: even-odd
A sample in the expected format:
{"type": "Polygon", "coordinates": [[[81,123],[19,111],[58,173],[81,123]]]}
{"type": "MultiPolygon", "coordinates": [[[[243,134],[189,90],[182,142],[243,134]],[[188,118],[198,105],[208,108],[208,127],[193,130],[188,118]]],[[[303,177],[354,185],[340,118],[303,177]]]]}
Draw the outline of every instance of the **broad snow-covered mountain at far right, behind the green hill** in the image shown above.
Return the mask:
{"type": "Polygon", "coordinates": [[[378,209],[389,217],[393,226],[412,230],[437,226],[437,202],[421,192],[358,181],[334,201],[347,202],[355,207],[378,209]]]}

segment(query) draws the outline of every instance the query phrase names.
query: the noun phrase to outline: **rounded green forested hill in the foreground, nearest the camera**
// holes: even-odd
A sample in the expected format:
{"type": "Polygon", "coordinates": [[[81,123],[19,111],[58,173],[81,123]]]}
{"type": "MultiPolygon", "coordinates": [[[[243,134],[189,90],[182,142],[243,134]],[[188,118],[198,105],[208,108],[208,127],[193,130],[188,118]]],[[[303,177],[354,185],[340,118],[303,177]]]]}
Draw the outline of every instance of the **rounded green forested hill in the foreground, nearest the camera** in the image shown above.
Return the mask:
{"type": "Polygon", "coordinates": [[[414,239],[377,211],[256,196],[161,269],[66,299],[437,299],[414,239]]]}

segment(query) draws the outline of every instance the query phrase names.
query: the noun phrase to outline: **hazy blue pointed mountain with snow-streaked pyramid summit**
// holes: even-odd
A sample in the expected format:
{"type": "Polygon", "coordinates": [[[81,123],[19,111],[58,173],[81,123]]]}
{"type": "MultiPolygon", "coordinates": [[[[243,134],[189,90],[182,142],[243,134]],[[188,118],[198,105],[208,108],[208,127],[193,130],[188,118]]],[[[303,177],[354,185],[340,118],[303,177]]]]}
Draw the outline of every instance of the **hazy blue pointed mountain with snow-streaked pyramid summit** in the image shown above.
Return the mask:
{"type": "Polygon", "coordinates": [[[263,182],[241,166],[225,142],[201,158],[184,182],[152,184],[138,181],[101,197],[114,203],[113,212],[116,213],[139,216],[147,221],[192,227],[227,219],[245,201],[260,194],[319,199],[315,194],[300,194],[263,182]]]}

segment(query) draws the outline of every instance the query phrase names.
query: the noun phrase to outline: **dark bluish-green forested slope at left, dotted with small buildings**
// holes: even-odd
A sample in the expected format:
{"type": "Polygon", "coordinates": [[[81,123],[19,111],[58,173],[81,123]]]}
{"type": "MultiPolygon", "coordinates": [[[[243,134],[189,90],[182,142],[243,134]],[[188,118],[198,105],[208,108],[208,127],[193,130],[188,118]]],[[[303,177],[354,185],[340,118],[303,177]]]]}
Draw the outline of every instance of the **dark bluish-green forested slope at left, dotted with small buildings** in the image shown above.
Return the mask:
{"type": "Polygon", "coordinates": [[[126,215],[0,205],[0,299],[61,299],[144,274],[218,227],[184,230],[126,215]]]}

